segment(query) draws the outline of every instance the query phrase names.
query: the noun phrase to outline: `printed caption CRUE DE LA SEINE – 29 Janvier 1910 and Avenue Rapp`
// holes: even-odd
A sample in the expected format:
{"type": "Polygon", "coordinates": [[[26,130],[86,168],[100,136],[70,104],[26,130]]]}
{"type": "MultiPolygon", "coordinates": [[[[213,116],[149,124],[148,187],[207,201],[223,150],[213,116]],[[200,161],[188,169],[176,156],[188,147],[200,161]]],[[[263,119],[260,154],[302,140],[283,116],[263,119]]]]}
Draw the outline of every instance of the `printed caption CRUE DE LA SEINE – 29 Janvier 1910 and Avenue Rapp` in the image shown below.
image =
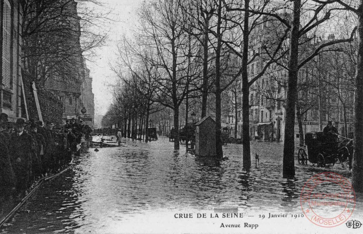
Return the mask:
{"type": "MultiPolygon", "coordinates": [[[[175,213],[174,214],[174,218],[179,218],[179,219],[185,219],[185,218],[244,218],[244,217],[248,217],[248,218],[258,218],[258,219],[265,219],[265,218],[300,218],[300,217],[304,217],[303,214],[284,214],[284,213],[279,213],[279,214],[274,214],[274,213],[268,213],[267,215],[265,214],[260,214],[260,215],[245,215],[243,213],[175,213]]],[[[251,223],[243,223],[243,224],[239,224],[239,223],[221,223],[220,228],[251,228],[251,229],[256,229],[258,228],[258,224],[251,224],[251,223]]]]}

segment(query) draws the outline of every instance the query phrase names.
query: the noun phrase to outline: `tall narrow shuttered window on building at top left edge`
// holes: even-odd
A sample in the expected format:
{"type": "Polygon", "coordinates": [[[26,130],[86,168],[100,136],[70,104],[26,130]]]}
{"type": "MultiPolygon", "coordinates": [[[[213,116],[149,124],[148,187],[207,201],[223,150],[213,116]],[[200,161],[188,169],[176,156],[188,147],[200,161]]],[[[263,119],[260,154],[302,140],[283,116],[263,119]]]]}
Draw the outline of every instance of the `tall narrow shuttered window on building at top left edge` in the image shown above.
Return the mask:
{"type": "Polygon", "coordinates": [[[11,6],[8,0],[4,0],[2,22],[2,84],[10,88],[11,6]]]}

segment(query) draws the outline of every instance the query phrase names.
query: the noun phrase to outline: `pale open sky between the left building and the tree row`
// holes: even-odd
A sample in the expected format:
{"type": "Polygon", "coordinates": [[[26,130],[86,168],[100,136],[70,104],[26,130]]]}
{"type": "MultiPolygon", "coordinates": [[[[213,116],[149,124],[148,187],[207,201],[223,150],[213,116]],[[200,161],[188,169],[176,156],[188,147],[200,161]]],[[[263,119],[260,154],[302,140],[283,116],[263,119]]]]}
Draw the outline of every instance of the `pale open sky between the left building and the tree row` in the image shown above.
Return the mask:
{"type": "Polygon", "coordinates": [[[96,50],[96,57],[87,61],[90,76],[93,78],[92,87],[95,94],[95,115],[104,115],[112,101],[112,84],[117,80],[109,63],[117,57],[117,41],[123,34],[131,34],[137,23],[136,12],[142,0],[101,0],[105,3],[104,11],[112,11],[108,21],[109,37],[105,46],[96,50]]]}

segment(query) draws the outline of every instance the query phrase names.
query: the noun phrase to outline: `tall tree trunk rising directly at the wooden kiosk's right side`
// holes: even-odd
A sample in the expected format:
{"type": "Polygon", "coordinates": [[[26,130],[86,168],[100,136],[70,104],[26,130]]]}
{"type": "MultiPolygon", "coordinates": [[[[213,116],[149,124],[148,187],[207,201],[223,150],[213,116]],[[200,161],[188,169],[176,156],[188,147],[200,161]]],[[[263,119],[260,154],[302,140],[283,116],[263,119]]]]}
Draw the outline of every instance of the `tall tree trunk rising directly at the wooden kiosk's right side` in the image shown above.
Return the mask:
{"type": "Polygon", "coordinates": [[[221,35],[221,16],[222,11],[222,0],[219,0],[218,4],[218,20],[217,20],[217,47],[215,51],[215,149],[216,156],[223,157],[222,142],[221,142],[221,46],[222,46],[222,35],[221,35]]]}

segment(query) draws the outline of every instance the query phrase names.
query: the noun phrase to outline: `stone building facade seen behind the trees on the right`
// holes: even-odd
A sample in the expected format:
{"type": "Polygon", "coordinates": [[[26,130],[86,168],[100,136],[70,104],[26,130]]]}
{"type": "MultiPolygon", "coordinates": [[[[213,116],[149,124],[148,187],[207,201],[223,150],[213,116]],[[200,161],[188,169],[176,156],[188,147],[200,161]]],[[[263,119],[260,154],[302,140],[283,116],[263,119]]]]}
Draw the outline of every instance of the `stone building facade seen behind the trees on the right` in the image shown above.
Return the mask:
{"type": "MultiPolygon", "coordinates": [[[[260,24],[252,31],[251,50],[260,51],[266,41],[273,41],[276,30],[273,21],[260,24]],[[271,33],[272,32],[272,35],[271,33]]],[[[334,39],[329,35],[324,41],[311,41],[315,48],[326,40],[334,39]]],[[[347,45],[337,45],[347,46],[347,45]]],[[[303,133],[321,131],[328,121],[345,136],[353,131],[354,65],[352,59],[342,52],[342,48],[330,48],[306,63],[298,72],[298,100],[296,110],[300,109],[303,133]],[[345,126],[346,125],[346,126],[345,126]],[[345,130],[346,129],[346,130],[345,130]]],[[[354,51],[354,50],[352,50],[354,51]]],[[[307,51],[308,53],[308,51],[307,51]]],[[[250,57],[252,56],[252,52],[250,57]]],[[[260,73],[268,59],[257,57],[248,65],[249,79],[260,73]]],[[[287,70],[276,63],[271,64],[263,77],[250,87],[250,138],[283,141],[285,132],[287,98],[287,70]]],[[[242,86],[239,87],[242,90],[242,86]]],[[[232,98],[233,99],[233,98],[232,98]]],[[[238,100],[242,99],[241,97],[238,100]]],[[[241,102],[241,101],[240,101],[241,102]]],[[[242,105],[242,104],[241,104],[242,105]]],[[[296,115],[297,116],[297,115],[296,115]]],[[[242,133],[242,112],[235,119],[234,112],[222,116],[222,127],[229,127],[233,137],[237,121],[237,138],[242,133]]],[[[295,119],[295,137],[299,137],[298,119],[295,119]]]]}

